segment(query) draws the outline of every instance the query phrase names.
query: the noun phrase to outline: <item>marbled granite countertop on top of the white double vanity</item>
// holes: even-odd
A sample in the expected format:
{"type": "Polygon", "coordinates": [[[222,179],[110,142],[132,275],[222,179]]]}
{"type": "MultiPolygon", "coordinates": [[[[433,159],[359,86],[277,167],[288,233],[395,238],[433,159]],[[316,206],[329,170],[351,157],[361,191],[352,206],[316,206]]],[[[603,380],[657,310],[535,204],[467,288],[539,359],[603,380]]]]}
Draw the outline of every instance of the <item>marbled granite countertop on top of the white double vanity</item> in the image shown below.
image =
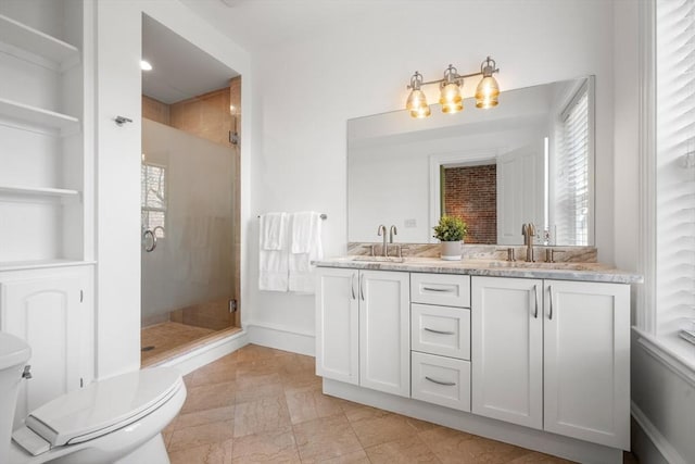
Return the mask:
{"type": "MultiPolygon", "coordinates": [[[[556,280],[640,284],[643,277],[601,263],[527,263],[523,261],[471,260],[443,261],[439,258],[405,258],[397,261],[371,261],[379,256],[341,256],[314,261],[318,267],[343,267],[410,273],[464,274],[491,277],[526,277],[556,280]]],[[[383,260],[383,259],[381,259],[383,260]]]]}

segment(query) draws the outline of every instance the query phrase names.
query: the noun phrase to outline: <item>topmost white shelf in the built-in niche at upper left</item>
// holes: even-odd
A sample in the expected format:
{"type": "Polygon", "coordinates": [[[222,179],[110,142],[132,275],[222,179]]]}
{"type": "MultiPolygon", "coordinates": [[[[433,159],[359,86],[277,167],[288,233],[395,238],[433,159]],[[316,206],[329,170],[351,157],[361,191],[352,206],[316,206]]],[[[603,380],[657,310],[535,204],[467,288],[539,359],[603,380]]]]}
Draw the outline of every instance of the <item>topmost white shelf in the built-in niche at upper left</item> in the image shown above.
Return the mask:
{"type": "Polygon", "coordinates": [[[0,41],[53,61],[61,66],[79,60],[79,50],[76,47],[1,14],[0,41]]]}

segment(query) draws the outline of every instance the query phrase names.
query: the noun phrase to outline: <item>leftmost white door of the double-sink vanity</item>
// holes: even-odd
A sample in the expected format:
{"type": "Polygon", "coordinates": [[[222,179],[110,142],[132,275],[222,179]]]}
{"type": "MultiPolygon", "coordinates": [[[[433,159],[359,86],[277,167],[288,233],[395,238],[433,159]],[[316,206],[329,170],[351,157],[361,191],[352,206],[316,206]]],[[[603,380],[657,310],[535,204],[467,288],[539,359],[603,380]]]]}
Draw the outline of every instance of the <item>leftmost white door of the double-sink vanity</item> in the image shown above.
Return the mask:
{"type": "Polygon", "coordinates": [[[359,383],[356,269],[321,267],[316,288],[316,375],[359,383]]]}

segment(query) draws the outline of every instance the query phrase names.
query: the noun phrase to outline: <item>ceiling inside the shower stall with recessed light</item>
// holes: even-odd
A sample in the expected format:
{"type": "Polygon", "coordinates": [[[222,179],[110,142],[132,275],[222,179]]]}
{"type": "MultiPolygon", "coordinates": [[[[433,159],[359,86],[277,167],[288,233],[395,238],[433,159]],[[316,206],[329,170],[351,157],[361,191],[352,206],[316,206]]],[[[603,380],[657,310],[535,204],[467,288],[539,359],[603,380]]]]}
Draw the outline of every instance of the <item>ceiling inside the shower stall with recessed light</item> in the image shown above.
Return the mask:
{"type": "Polygon", "coordinates": [[[227,87],[239,75],[146,15],[142,59],[152,64],[142,72],[142,93],[167,104],[227,87]]]}

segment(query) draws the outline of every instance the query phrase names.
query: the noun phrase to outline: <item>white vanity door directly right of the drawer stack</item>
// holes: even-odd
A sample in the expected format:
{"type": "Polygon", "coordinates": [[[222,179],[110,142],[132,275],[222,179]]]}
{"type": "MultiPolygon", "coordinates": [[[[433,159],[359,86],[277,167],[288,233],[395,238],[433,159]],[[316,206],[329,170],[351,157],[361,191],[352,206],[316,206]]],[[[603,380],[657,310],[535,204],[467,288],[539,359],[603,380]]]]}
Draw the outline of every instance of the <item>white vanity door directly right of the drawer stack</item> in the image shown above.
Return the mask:
{"type": "Polygon", "coordinates": [[[471,411],[541,429],[543,281],[471,281],[471,411]]]}

